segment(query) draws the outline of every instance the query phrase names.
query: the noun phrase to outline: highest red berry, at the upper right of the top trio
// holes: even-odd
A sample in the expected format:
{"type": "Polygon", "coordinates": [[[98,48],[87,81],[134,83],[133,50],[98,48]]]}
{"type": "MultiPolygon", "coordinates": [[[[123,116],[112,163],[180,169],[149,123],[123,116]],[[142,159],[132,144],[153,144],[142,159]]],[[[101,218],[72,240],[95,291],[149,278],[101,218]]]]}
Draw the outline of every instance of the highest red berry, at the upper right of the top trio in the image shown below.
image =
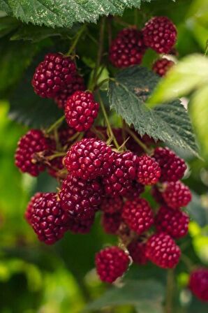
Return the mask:
{"type": "Polygon", "coordinates": [[[177,29],[168,17],[153,17],[142,30],[144,44],[158,53],[168,53],[177,40],[177,29]]]}

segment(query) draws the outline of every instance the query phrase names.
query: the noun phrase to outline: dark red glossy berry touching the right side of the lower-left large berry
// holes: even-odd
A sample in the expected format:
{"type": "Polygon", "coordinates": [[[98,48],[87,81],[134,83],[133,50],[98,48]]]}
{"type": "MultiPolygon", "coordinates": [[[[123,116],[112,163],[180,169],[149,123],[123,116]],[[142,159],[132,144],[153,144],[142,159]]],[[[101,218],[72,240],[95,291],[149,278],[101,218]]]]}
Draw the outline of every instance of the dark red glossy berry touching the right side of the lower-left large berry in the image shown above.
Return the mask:
{"type": "Polygon", "coordinates": [[[68,174],[59,192],[61,208],[78,221],[94,218],[102,196],[103,190],[98,180],[86,182],[71,174],[68,174]]]}

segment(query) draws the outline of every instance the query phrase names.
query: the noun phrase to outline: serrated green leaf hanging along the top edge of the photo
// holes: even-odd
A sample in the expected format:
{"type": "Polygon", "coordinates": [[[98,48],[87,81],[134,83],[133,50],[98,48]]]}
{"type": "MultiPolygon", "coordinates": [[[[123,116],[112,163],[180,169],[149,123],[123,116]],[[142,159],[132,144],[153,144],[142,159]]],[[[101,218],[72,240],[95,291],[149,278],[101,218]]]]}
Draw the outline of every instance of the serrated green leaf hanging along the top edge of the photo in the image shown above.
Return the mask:
{"type": "Polygon", "coordinates": [[[76,22],[96,22],[100,15],[121,15],[125,8],[140,4],[140,0],[0,0],[0,10],[22,22],[71,27],[76,22]]]}

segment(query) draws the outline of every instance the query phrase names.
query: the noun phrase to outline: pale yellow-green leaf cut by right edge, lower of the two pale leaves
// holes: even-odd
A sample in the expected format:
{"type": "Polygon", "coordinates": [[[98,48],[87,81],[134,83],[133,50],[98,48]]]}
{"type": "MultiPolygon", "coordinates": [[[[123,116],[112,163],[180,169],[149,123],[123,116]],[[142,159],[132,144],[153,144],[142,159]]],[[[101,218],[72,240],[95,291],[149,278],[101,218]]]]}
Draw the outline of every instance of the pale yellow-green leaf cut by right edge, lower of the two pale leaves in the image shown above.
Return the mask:
{"type": "Polygon", "coordinates": [[[193,126],[198,136],[200,142],[200,147],[202,150],[202,155],[208,157],[208,87],[200,88],[191,99],[190,112],[193,121],[193,126]]]}

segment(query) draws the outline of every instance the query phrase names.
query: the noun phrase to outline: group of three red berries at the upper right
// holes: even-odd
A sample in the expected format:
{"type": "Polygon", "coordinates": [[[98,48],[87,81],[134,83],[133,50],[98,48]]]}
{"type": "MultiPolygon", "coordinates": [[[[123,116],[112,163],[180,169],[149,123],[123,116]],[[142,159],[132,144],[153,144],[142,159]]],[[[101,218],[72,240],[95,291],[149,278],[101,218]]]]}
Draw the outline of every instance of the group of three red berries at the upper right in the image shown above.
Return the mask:
{"type": "MultiPolygon", "coordinates": [[[[137,27],[122,29],[112,41],[110,47],[110,61],[118,68],[140,64],[147,48],[158,54],[172,54],[177,41],[177,29],[168,17],[153,17],[144,28],[137,27]]],[[[164,76],[174,62],[161,57],[156,60],[152,70],[164,76]]]]}

